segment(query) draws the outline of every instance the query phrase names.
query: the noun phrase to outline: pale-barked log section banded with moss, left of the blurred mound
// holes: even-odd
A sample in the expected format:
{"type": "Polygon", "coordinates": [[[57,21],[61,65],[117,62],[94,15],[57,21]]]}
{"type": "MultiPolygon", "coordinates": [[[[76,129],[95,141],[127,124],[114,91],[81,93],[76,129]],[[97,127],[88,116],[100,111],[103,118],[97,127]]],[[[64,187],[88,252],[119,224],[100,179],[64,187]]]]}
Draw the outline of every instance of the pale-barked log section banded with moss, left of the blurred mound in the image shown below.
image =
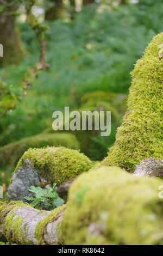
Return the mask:
{"type": "Polygon", "coordinates": [[[40,211],[20,201],[1,203],[0,240],[18,245],[57,245],[64,209],[65,205],[40,211]]]}

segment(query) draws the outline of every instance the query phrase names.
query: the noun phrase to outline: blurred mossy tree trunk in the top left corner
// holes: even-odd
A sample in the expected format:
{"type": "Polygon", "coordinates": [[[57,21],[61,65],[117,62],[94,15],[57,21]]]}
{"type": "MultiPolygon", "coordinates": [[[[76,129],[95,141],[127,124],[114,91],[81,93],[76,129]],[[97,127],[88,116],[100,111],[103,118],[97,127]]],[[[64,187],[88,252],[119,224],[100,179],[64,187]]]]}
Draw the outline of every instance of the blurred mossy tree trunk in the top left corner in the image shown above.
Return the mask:
{"type": "MultiPolygon", "coordinates": [[[[0,7],[4,5],[0,0],[0,7]]],[[[11,3],[11,1],[5,1],[11,3]]],[[[26,56],[22,45],[20,33],[16,26],[16,11],[18,5],[10,4],[0,16],[0,43],[3,45],[3,56],[0,58],[0,66],[5,64],[18,64],[26,56]]]]}

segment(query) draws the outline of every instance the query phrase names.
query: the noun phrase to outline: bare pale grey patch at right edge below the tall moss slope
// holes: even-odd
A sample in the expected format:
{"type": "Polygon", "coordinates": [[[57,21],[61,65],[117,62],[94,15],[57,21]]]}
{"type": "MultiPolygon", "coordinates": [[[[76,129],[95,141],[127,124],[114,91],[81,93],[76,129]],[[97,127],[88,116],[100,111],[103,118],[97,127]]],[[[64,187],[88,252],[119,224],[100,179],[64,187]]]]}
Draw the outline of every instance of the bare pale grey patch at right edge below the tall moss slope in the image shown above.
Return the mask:
{"type": "Polygon", "coordinates": [[[136,176],[163,176],[163,160],[156,160],[152,157],[142,161],[136,166],[134,175],[136,176]]]}

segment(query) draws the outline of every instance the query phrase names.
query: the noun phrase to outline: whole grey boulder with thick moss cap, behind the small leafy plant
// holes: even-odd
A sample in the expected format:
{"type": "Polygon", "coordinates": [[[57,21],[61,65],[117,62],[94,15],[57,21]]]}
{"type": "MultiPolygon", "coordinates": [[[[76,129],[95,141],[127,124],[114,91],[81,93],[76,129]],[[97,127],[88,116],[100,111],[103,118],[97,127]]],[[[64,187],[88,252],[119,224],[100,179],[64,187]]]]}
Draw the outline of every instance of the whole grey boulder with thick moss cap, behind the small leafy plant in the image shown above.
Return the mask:
{"type": "Polygon", "coordinates": [[[17,164],[8,188],[8,199],[24,200],[24,196],[30,196],[28,188],[32,185],[57,183],[59,186],[91,167],[92,162],[78,150],[64,147],[29,149],[17,164]]]}

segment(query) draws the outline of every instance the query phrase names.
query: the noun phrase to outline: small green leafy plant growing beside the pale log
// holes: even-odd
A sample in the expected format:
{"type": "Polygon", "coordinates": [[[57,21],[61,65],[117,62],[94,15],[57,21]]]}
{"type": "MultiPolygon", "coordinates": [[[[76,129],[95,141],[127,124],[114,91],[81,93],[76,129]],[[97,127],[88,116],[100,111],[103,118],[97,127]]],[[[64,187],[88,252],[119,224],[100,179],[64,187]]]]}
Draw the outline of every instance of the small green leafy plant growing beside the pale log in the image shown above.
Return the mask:
{"type": "Polygon", "coordinates": [[[52,188],[42,189],[31,186],[28,190],[35,194],[35,197],[24,197],[27,201],[32,201],[31,205],[38,210],[54,210],[64,204],[64,200],[58,197],[57,184],[52,188]]]}

